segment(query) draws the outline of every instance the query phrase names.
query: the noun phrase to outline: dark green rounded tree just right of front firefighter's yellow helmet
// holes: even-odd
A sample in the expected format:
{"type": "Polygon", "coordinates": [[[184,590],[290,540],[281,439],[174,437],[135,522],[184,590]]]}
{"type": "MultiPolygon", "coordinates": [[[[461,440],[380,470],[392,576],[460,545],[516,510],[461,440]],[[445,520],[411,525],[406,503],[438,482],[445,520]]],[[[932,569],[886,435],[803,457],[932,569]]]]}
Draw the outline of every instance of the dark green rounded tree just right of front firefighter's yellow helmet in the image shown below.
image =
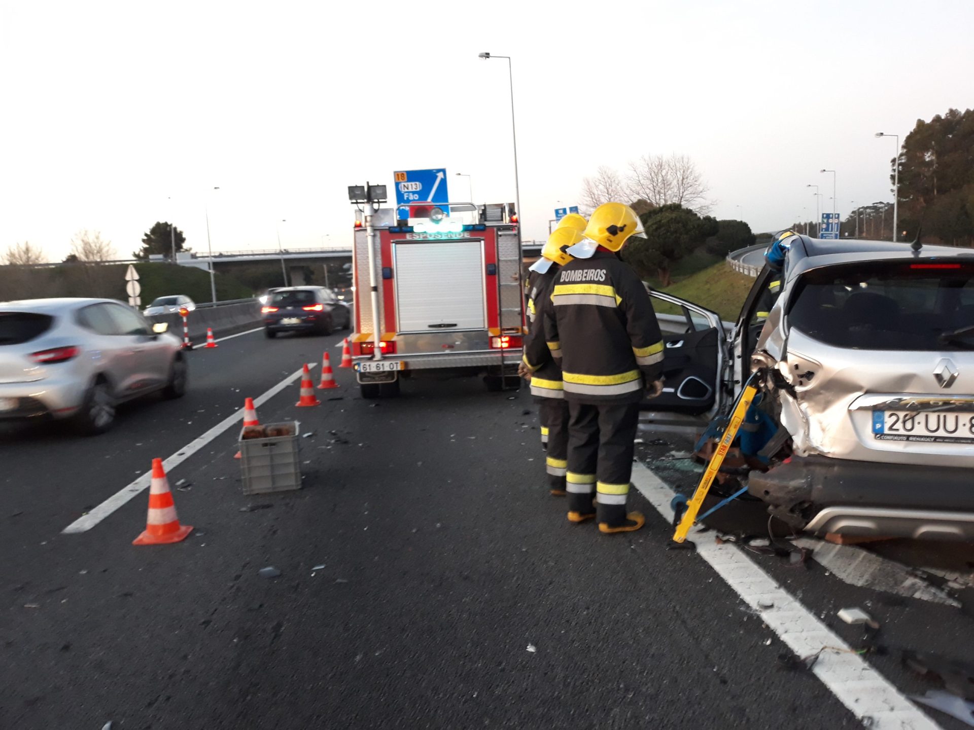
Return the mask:
{"type": "Polygon", "coordinates": [[[716,236],[719,229],[715,218],[701,218],[677,202],[652,208],[640,220],[643,236],[629,240],[622,259],[644,277],[658,276],[663,287],[671,283],[673,264],[716,236]]]}

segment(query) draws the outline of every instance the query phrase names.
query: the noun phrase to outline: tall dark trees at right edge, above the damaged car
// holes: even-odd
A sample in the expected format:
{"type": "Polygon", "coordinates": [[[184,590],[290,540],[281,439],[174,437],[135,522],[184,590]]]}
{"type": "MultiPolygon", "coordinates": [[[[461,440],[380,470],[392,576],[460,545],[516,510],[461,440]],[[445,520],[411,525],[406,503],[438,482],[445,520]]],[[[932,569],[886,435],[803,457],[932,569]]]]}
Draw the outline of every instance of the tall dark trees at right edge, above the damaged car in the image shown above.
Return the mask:
{"type": "Polygon", "coordinates": [[[974,109],[917,120],[892,162],[900,166],[900,237],[909,239],[922,226],[924,239],[974,244],[972,161],[974,109]]]}

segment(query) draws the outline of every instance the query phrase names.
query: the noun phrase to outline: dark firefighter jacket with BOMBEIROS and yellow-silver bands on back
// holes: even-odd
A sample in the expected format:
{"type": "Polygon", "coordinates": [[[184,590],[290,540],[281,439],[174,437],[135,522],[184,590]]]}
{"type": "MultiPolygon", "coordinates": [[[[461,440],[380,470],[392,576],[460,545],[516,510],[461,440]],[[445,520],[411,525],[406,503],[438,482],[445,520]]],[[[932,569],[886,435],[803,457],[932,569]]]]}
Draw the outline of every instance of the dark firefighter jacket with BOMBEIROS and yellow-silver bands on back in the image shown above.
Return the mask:
{"type": "MultiPolygon", "coordinates": [[[[650,295],[612,253],[561,268],[543,308],[550,354],[561,361],[565,398],[636,403],[662,375],[663,342],[650,295]]],[[[530,358],[529,358],[530,359],[530,358]]],[[[528,368],[540,363],[526,362],[528,368]]]]}

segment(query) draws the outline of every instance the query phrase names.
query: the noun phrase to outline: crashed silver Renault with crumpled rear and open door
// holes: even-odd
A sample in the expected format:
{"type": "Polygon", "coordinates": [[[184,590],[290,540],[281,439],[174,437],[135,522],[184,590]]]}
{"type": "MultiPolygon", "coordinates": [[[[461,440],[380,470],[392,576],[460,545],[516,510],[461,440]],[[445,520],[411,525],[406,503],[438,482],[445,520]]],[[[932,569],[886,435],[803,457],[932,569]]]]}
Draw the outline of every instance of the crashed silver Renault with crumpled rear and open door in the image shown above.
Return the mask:
{"type": "Polygon", "coordinates": [[[665,337],[667,390],[644,421],[713,432],[757,373],[741,479],[772,515],[819,534],[974,539],[974,251],[789,242],[730,338],[713,312],[653,293],[686,328],[665,337]]]}

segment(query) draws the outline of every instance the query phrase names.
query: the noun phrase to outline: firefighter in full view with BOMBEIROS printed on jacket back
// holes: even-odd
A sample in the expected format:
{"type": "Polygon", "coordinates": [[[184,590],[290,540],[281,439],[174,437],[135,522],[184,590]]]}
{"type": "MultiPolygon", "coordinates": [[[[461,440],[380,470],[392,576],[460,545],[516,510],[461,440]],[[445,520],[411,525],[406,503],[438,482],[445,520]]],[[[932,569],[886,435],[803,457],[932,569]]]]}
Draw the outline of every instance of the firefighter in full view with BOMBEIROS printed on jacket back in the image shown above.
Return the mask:
{"type": "Polygon", "coordinates": [[[639,403],[662,391],[663,342],[649,293],[618,258],[636,232],[628,205],[607,202],[592,213],[575,259],[558,272],[544,325],[560,359],[569,408],[568,519],[596,518],[610,534],[643,527],[626,513],[639,403]],[[597,494],[597,508],[592,497],[597,494]]]}

